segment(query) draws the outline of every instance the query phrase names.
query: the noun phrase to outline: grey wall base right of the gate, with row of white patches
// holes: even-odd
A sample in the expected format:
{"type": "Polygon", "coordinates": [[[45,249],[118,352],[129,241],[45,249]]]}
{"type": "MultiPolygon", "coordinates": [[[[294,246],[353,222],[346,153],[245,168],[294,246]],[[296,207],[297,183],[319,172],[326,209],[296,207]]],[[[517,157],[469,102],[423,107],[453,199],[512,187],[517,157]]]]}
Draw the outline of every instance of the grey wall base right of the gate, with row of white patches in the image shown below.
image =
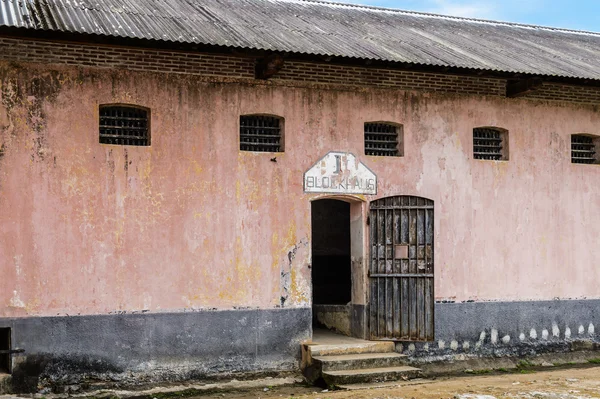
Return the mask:
{"type": "Polygon", "coordinates": [[[600,342],[600,300],[437,303],[435,342],[398,349],[414,359],[527,356],[591,349],[600,342]]]}

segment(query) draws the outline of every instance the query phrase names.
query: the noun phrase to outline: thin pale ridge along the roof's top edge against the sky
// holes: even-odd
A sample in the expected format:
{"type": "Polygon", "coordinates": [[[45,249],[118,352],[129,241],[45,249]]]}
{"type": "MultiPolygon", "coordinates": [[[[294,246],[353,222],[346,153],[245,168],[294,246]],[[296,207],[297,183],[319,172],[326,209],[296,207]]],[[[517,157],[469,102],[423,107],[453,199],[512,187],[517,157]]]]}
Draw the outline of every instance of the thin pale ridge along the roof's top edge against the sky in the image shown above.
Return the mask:
{"type": "MultiPolygon", "coordinates": [[[[197,1],[197,0],[192,0],[192,1],[197,1]]],[[[350,8],[365,8],[365,9],[376,10],[376,11],[389,11],[389,12],[396,12],[396,13],[400,13],[400,14],[408,14],[408,15],[412,14],[412,15],[421,15],[421,16],[426,16],[426,17],[456,19],[459,21],[473,21],[473,22],[480,22],[480,23],[507,25],[507,26],[523,27],[523,28],[539,28],[539,29],[546,29],[546,30],[558,31],[558,32],[582,33],[582,34],[600,36],[600,32],[594,32],[594,31],[588,31],[588,30],[559,28],[559,27],[554,27],[554,26],[526,24],[526,23],[521,23],[521,22],[498,21],[498,20],[484,19],[484,18],[458,17],[458,16],[454,16],[454,15],[436,14],[436,13],[426,12],[426,11],[411,11],[411,10],[403,10],[400,8],[372,6],[372,5],[368,5],[368,4],[343,3],[341,1],[330,1],[330,0],[272,0],[272,1],[287,1],[287,2],[337,5],[337,6],[344,6],[344,7],[350,7],[350,8]]]]}

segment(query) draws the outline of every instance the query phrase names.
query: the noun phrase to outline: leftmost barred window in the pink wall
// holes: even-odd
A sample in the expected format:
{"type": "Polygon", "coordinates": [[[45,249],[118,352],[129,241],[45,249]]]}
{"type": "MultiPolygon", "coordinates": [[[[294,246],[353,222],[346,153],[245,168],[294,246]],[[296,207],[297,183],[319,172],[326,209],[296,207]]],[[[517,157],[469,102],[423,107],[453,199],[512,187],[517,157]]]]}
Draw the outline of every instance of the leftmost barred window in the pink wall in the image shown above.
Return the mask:
{"type": "Polygon", "coordinates": [[[100,143],[150,145],[148,111],[137,107],[100,107],[100,143]]]}

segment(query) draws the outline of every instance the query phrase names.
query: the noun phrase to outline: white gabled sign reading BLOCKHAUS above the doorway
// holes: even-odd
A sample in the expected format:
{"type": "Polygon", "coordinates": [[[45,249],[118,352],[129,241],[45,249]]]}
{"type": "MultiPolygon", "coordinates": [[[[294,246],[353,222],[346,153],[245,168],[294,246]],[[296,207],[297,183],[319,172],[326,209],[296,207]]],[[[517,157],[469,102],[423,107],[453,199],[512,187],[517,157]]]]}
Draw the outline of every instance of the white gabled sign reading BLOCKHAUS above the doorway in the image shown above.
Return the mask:
{"type": "Polygon", "coordinates": [[[330,152],[304,173],[305,193],[377,194],[377,176],[354,154],[330,152]]]}

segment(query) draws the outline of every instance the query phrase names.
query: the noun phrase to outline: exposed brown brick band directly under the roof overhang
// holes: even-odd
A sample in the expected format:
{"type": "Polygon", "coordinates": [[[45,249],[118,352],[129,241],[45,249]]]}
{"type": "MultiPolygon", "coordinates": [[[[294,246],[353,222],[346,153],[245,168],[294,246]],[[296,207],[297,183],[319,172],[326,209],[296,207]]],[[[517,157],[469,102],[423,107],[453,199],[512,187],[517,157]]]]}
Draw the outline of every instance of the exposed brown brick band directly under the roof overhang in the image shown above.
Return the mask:
{"type": "MultiPolygon", "coordinates": [[[[57,64],[92,68],[126,69],[140,72],[177,73],[211,80],[241,80],[256,84],[287,86],[324,85],[336,89],[373,87],[466,95],[504,97],[504,79],[460,76],[396,69],[368,68],[304,61],[286,61],[270,82],[254,79],[254,59],[218,54],[136,49],[78,43],[34,41],[0,37],[0,61],[40,65],[57,64]]],[[[544,83],[526,98],[600,103],[600,88],[544,83]]]]}

